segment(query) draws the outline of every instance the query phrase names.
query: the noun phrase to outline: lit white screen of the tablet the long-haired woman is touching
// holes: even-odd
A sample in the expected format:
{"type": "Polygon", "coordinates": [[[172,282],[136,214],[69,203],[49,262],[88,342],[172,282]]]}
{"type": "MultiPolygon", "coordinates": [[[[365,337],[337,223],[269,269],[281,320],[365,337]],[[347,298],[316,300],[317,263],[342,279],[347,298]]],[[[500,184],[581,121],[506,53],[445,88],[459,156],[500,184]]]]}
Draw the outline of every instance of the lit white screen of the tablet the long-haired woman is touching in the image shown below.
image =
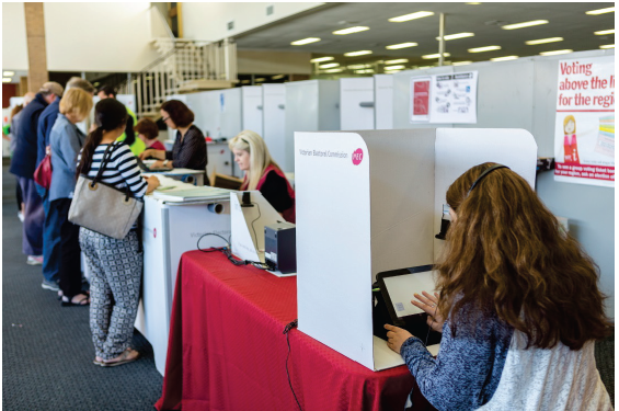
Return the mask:
{"type": "Polygon", "coordinates": [[[411,300],[415,298],[414,294],[422,294],[422,292],[432,294],[435,289],[432,271],[385,277],[382,281],[398,318],[423,312],[411,304],[411,300]]]}

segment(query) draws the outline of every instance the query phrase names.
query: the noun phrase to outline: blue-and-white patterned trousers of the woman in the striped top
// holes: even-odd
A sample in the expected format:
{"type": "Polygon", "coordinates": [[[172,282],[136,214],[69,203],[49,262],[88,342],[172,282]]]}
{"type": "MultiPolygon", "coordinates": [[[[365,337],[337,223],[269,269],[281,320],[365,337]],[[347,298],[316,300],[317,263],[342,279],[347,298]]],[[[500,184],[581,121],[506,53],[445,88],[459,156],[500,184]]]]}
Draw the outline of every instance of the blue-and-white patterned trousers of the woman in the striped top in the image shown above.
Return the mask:
{"type": "Polygon", "coordinates": [[[117,357],[131,341],[138,309],[142,252],[137,233],[123,240],[80,228],[80,247],[91,273],[90,330],[94,352],[117,357]]]}

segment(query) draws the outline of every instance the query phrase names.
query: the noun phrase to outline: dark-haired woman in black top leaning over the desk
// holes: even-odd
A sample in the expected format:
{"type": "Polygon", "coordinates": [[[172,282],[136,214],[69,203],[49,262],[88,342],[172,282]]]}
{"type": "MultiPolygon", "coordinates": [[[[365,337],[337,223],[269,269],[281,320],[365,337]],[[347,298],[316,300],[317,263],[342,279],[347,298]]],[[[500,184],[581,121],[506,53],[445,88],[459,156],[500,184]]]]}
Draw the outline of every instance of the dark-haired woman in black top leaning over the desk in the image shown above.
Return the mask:
{"type": "MultiPolygon", "coordinates": [[[[139,158],[156,158],[151,168],[172,167],[176,169],[205,170],[207,164],[206,140],[194,122],[194,113],[181,101],[170,100],[161,104],[161,117],[168,127],[176,129],[172,151],[149,148],[139,158]]],[[[206,182],[208,185],[208,182],[206,182]]]]}

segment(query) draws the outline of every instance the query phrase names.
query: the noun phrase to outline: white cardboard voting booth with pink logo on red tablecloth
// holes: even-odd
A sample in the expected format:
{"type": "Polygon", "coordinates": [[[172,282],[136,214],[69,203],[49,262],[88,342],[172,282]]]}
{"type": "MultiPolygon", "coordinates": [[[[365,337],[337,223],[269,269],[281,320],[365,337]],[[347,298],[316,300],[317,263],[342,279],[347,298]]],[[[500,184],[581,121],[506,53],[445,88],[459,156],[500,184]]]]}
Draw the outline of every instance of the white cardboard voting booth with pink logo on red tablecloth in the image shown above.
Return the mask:
{"type": "Polygon", "coordinates": [[[486,161],[534,187],[523,129],[295,133],[299,330],[374,370],[403,364],[372,334],[371,285],[436,261],[448,186],[486,161]]]}

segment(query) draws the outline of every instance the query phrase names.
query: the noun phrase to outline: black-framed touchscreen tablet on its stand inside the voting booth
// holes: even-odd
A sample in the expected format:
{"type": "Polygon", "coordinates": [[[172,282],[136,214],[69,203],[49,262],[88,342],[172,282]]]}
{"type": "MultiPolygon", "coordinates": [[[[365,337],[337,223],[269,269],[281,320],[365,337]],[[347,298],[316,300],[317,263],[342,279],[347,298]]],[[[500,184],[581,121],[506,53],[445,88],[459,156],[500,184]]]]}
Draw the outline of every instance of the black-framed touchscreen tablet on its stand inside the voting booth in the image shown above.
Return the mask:
{"type": "Polygon", "coordinates": [[[415,293],[434,293],[436,284],[433,266],[422,265],[387,271],[378,273],[376,278],[380,292],[374,293],[376,298],[374,334],[387,340],[387,330],[382,326],[391,323],[405,329],[425,345],[438,344],[440,333],[431,330],[426,322],[427,313],[411,302],[415,293]]]}

